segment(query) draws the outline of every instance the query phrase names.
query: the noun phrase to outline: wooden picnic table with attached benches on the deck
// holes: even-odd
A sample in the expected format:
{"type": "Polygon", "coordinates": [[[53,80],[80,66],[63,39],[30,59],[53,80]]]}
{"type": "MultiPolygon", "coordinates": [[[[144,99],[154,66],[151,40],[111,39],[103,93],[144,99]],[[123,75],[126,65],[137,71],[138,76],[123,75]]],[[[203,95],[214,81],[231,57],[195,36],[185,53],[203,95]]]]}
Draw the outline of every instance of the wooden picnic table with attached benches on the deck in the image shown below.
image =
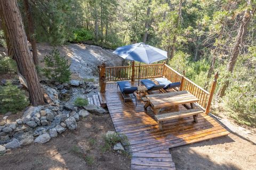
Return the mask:
{"type": "Polygon", "coordinates": [[[197,123],[197,115],[203,113],[201,109],[194,109],[193,103],[198,102],[199,99],[197,99],[196,96],[189,93],[188,91],[150,94],[146,95],[146,98],[147,103],[145,104],[144,108],[147,109],[147,107],[151,107],[151,109],[154,111],[155,118],[160,129],[162,129],[162,122],[165,120],[181,117],[193,116],[194,122],[197,123]],[[162,108],[172,106],[177,106],[177,108],[179,108],[179,104],[186,103],[190,103],[190,109],[188,110],[174,111],[158,115],[162,108]]]}

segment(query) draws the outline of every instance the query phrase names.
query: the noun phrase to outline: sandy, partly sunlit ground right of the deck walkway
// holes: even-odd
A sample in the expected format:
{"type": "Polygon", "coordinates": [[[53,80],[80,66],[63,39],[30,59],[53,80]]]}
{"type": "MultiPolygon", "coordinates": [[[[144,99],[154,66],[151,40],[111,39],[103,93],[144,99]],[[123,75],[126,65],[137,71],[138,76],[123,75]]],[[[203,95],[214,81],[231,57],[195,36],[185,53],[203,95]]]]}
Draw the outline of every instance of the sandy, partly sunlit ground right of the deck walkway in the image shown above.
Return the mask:
{"type": "Polygon", "coordinates": [[[256,145],[230,134],[170,150],[177,169],[246,169],[256,167],[256,145]]]}

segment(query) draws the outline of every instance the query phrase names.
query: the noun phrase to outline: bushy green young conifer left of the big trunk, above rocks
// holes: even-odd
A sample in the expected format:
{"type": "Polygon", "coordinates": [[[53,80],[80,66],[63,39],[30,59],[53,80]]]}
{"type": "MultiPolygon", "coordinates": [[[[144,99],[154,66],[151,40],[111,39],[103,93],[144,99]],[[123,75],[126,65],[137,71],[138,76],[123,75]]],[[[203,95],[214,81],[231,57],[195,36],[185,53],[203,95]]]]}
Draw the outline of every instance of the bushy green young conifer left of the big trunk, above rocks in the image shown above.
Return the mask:
{"type": "Polygon", "coordinates": [[[24,91],[7,82],[6,86],[0,86],[0,112],[16,112],[28,106],[29,101],[24,91]]]}

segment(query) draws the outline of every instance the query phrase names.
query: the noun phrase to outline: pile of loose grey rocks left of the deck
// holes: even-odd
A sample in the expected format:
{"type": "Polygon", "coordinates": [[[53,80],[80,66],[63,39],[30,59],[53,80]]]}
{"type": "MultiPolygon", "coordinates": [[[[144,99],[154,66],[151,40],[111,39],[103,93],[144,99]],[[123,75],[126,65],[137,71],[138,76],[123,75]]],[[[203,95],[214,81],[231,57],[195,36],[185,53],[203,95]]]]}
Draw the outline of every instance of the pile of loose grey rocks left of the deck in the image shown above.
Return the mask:
{"type": "MultiPolygon", "coordinates": [[[[73,86],[84,85],[77,80],[70,81],[73,86]]],[[[64,90],[68,84],[58,84],[57,87],[64,90]]],[[[29,107],[22,118],[13,123],[1,122],[0,124],[0,155],[6,149],[19,148],[30,143],[45,143],[52,137],[57,137],[66,131],[77,128],[77,121],[82,117],[91,114],[102,115],[107,111],[99,106],[89,105],[78,108],[72,102],[62,102],[58,100],[58,89],[44,85],[46,92],[53,100],[53,104],[45,106],[29,107]]]]}

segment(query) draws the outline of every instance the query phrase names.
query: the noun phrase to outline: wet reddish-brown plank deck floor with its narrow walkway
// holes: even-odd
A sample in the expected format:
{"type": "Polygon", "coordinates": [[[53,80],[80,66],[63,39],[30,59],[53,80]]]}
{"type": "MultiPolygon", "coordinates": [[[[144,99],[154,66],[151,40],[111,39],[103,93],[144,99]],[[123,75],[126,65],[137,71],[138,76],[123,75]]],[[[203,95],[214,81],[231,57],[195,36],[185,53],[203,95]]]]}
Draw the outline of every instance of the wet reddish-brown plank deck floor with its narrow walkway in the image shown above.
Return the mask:
{"type": "Polygon", "coordinates": [[[116,132],[124,133],[130,141],[131,169],[175,169],[170,148],[229,134],[205,114],[198,115],[198,123],[193,122],[192,116],[166,121],[160,131],[153,111],[144,110],[145,103],[139,95],[137,106],[135,100],[124,103],[117,84],[109,82],[105,96],[116,132]]]}

